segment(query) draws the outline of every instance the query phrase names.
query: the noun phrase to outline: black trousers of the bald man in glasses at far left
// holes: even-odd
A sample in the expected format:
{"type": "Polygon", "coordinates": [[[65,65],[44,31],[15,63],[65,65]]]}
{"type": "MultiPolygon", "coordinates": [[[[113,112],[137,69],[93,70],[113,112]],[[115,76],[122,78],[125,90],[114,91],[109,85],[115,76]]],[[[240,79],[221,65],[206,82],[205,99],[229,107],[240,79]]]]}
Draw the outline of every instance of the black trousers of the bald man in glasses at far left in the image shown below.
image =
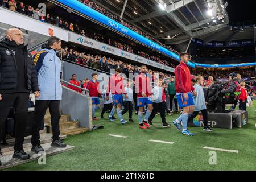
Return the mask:
{"type": "Polygon", "coordinates": [[[27,126],[29,93],[2,94],[0,101],[0,140],[5,135],[5,122],[11,107],[15,109],[15,144],[14,151],[22,150],[27,126]]]}

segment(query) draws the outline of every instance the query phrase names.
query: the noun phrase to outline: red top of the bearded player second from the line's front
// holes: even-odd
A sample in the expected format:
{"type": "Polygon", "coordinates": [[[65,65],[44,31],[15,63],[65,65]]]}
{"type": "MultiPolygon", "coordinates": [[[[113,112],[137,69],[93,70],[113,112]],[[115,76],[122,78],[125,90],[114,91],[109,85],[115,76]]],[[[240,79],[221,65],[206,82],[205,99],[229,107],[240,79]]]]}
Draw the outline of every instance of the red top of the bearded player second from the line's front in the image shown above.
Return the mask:
{"type": "Polygon", "coordinates": [[[145,73],[140,73],[135,78],[135,93],[137,93],[138,98],[143,97],[142,92],[145,93],[147,97],[153,94],[150,78],[145,73]]]}

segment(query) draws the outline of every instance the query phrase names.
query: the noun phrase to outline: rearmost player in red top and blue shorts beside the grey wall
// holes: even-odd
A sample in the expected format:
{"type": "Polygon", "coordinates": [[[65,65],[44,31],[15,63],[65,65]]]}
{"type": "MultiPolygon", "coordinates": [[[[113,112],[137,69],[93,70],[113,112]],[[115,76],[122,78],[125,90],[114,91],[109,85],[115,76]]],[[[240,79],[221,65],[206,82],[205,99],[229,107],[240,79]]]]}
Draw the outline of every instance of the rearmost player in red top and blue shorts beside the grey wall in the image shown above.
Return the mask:
{"type": "Polygon", "coordinates": [[[98,81],[98,75],[97,73],[92,73],[92,80],[88,82],[88,85],[86,87],[87,90],[89,90],[89,96],[92,97],[92,117],[93,120],[98,120],[95,116],[95,111],[98,108],[100,108],[100,99],[98,96],[100,93],[98,92],[98,85],[100,84],[98,81]]]}

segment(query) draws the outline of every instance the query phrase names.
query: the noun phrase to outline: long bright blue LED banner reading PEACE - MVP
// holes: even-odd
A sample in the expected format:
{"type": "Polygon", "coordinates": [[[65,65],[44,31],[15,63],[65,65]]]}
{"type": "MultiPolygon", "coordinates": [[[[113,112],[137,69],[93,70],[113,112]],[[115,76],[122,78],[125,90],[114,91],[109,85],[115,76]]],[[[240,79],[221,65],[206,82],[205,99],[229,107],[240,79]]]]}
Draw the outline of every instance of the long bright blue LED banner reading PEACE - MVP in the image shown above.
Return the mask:
{"type": "MultiPolygon", "coordinates": [[[[123,26],[121,23],[115,22],[115,20],[112,20],[108,18],[108,16],[105,16],[99,13],[98,11],[90,8],[89,6],[84,5],[84,3],[81,3],[77,0],[56,0],[56,1],[63,3],[65,6],[68,6],[71,9],[78,11],[79,13],[89,16],[90,18],[96,20],[97,22],[105,24],[106,26],[113,28],[115,31],[121,32],[122,34],[125,34],[126,36],[129,36],[130,38],[137,40],[138,42],[150,48],[155,49],[156,51],[159,51],[164,55],[167,55],[177,61],[180,61],[179,55],[177,55],[176,53],[160,46],[159,44],[152,42],[151,40],[145,38],[144,36],[138,34],[137,32],[123,26]]],[[[195,68],[194,63],[189,62],[188,65],[189,67],[195,68]]]]}

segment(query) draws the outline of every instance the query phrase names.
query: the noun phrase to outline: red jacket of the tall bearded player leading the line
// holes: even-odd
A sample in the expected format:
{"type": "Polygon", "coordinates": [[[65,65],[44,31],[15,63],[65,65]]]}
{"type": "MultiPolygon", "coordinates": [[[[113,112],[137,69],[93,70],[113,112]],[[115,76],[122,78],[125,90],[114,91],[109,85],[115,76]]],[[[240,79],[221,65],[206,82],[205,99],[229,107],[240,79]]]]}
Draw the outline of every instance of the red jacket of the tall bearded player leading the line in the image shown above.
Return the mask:
{"type": "Polygon", "coordinates": [[[187,64],[181,61],[174,74],[176,93],[189,93],[195,90],[191,84],[191,76],[187,64]]]}

